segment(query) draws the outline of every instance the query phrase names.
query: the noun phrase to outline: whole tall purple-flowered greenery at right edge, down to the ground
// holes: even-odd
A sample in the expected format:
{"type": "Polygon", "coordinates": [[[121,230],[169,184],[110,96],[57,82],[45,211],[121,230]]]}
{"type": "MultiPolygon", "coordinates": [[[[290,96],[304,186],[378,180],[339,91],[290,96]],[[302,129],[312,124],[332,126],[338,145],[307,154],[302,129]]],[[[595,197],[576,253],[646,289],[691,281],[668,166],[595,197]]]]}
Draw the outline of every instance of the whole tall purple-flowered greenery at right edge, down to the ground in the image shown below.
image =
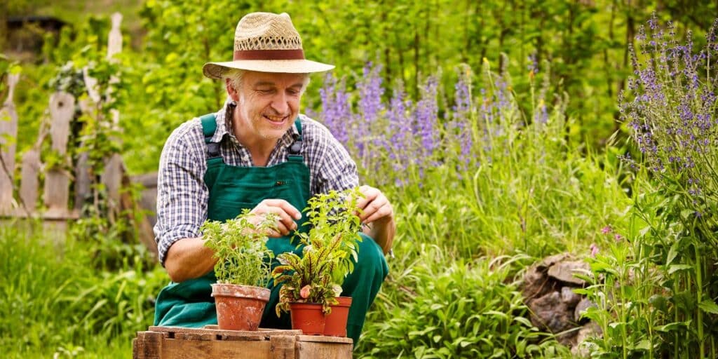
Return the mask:
{"type": "Polygon", "coordinates": [[[592,264],[586,292],[599,305],[587,316],[604,332],[592,342],[597,357],[718,355],[717,26],[699,55],[656,17],[638,33],[636,77],[620,105],[641,153],[627,162],[648,180],[634,186],[630,245],[610,246],[592,264]]]}

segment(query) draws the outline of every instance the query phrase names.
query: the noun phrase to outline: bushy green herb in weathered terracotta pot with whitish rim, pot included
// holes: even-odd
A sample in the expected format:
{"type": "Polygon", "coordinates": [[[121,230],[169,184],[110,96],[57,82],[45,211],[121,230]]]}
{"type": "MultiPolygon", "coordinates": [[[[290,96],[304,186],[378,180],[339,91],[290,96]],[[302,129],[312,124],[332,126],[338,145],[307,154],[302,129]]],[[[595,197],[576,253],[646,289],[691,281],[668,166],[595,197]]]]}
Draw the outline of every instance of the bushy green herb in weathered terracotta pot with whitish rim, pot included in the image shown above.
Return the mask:
{"type": "Polygon", "coordinates": [[[217,322],[223,330],[257,330],[262,312],[269,302],[271,258],[266,232],[274,226],[276,215],[256,220],[248,210],[224,223],[208,220],[202,225],[205,246],[217,258],[212,297],[217,322]],[[257,222],[257,223],[255,223],[257,222]]]}

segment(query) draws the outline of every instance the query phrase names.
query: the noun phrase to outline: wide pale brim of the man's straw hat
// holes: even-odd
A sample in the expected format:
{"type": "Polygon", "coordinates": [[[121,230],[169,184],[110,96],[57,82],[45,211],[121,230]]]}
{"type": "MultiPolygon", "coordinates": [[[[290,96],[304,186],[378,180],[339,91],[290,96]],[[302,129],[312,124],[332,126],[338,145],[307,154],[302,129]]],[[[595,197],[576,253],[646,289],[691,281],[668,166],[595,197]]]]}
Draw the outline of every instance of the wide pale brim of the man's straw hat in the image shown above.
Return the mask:
{"type": "Polygon", "coordinates": [[[332,70],[334,65],[312,60],[236,60],[208,62],[202,66],[202,73],[208,78],[220,80],[223,73],[232,68],[261,73],[323,73],[332,70]]]}

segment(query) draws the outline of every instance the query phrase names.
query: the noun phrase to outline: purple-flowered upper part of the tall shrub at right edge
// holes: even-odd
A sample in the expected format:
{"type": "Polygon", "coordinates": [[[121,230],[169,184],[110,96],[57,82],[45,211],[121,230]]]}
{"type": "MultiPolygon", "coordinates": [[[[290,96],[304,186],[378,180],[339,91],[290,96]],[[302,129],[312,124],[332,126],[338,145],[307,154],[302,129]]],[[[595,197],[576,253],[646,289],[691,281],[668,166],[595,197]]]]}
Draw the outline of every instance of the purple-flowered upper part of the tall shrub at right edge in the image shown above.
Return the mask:
{"type": "Polygon", "coordinates": [[[630,127],[643,164],[669,195],[676,195],[681,222],[715,248],[717,25],[709,30],[705,47],[694,53],[691,32],[686,44],[679,44],[673,24],[668,23],[666,32],[654,16],[648,32],[642,27],[636,37],[635,78],[628,82],[632,96],[620,101],[621,118],[630,127]]]}

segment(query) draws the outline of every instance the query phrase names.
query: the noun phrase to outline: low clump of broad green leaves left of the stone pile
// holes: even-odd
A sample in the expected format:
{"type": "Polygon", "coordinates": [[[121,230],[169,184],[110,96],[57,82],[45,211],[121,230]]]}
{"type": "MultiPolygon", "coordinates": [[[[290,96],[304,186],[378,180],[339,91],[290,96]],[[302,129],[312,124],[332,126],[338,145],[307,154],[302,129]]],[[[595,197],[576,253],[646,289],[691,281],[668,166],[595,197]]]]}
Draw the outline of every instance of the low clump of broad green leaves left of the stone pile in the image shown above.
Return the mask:
{"type": "MultiPolygon", "coordinates": [[[[435,246],[421,246],[421,252],[443,259],[435,246]]],[[[358,351],[364,353],[362,358],[567,356],[526,319],[520,283],[512,274],[528,259],[457,260],[447,268],[426,261],[407,268],[409,276],[388,283],[406,291],[406,298],[391,303],[386,319],[368,319],[358,351]]]]}

